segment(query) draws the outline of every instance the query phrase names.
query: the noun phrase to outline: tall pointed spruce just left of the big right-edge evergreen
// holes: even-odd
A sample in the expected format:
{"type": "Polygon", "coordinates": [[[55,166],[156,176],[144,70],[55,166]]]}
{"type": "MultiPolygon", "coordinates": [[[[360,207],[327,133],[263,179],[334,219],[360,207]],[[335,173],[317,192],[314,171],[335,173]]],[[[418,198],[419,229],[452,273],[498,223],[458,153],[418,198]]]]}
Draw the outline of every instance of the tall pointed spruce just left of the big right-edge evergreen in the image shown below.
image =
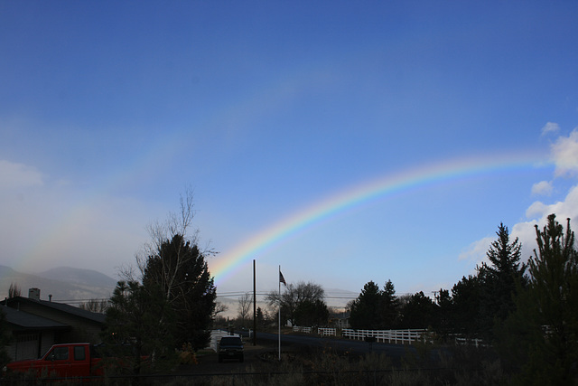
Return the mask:
{"type": "Polygon", "coordinates": [[[522,245],[509,240],[508,227],[499,224],[498,240],[491,243],[486,256],[489,264],[478,269],[480,279],[480,332],[492,338],[493,325],[501,324],[514,309],[517,285],[526,286],[526,264],[520,263],[522,245]]]}

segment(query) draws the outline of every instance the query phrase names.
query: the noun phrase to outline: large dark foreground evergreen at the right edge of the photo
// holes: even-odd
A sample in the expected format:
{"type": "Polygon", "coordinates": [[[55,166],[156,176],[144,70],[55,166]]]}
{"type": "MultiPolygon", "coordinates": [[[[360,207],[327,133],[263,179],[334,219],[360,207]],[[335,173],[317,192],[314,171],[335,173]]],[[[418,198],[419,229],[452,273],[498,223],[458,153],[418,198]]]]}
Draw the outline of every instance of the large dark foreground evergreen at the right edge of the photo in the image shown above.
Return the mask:
{"type": "Polygon", "coordinates": [[[521,370],[524,384],[572,384],[578,377],[578,251],[550,214],[543,231],[536,225],[537,249],[528,264],[528,286],[499,331],[505,356],[521,370]]]}

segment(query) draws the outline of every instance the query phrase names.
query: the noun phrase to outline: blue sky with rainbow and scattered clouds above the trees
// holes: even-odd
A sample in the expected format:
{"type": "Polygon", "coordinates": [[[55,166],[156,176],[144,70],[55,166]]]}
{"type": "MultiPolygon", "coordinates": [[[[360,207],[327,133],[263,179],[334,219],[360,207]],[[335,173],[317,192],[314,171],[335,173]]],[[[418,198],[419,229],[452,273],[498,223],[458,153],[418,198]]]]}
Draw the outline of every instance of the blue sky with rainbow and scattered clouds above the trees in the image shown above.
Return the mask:
{"type": "Polygon", "coordinates": [[[218,294],[450,289],[578,229],[578,3],[0,0],[0,265],[117,278],[194,192],[218,294]]]}

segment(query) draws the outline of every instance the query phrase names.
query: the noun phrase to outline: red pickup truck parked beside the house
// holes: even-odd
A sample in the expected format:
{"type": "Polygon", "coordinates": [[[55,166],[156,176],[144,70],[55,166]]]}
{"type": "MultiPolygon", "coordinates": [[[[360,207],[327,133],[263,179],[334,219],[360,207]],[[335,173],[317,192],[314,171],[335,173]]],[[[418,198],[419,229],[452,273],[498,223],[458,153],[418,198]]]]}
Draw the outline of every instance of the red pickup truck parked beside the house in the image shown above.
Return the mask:
{"type": "Polygon", "coordinates": [[[10,362],[6,368],[38,377],[89,377],[103,375],[101,360],[94,344],[54,344],[42,358],[10,362]]]}

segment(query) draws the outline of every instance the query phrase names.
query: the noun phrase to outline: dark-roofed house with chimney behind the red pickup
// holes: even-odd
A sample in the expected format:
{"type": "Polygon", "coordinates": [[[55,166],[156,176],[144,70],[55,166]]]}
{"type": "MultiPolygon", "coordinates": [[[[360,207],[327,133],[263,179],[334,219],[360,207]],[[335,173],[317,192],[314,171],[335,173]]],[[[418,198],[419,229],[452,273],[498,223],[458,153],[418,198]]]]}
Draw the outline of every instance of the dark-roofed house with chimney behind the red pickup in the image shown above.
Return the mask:
{"type": "Polygon", "coordinates": [[[104,314],[41,300],[38,288],[31,288],[28,297],[12,297],[0,305],[13,335],[8,354],[14,360],[39,358],[52,344],[100,342],[104,314]]]}

